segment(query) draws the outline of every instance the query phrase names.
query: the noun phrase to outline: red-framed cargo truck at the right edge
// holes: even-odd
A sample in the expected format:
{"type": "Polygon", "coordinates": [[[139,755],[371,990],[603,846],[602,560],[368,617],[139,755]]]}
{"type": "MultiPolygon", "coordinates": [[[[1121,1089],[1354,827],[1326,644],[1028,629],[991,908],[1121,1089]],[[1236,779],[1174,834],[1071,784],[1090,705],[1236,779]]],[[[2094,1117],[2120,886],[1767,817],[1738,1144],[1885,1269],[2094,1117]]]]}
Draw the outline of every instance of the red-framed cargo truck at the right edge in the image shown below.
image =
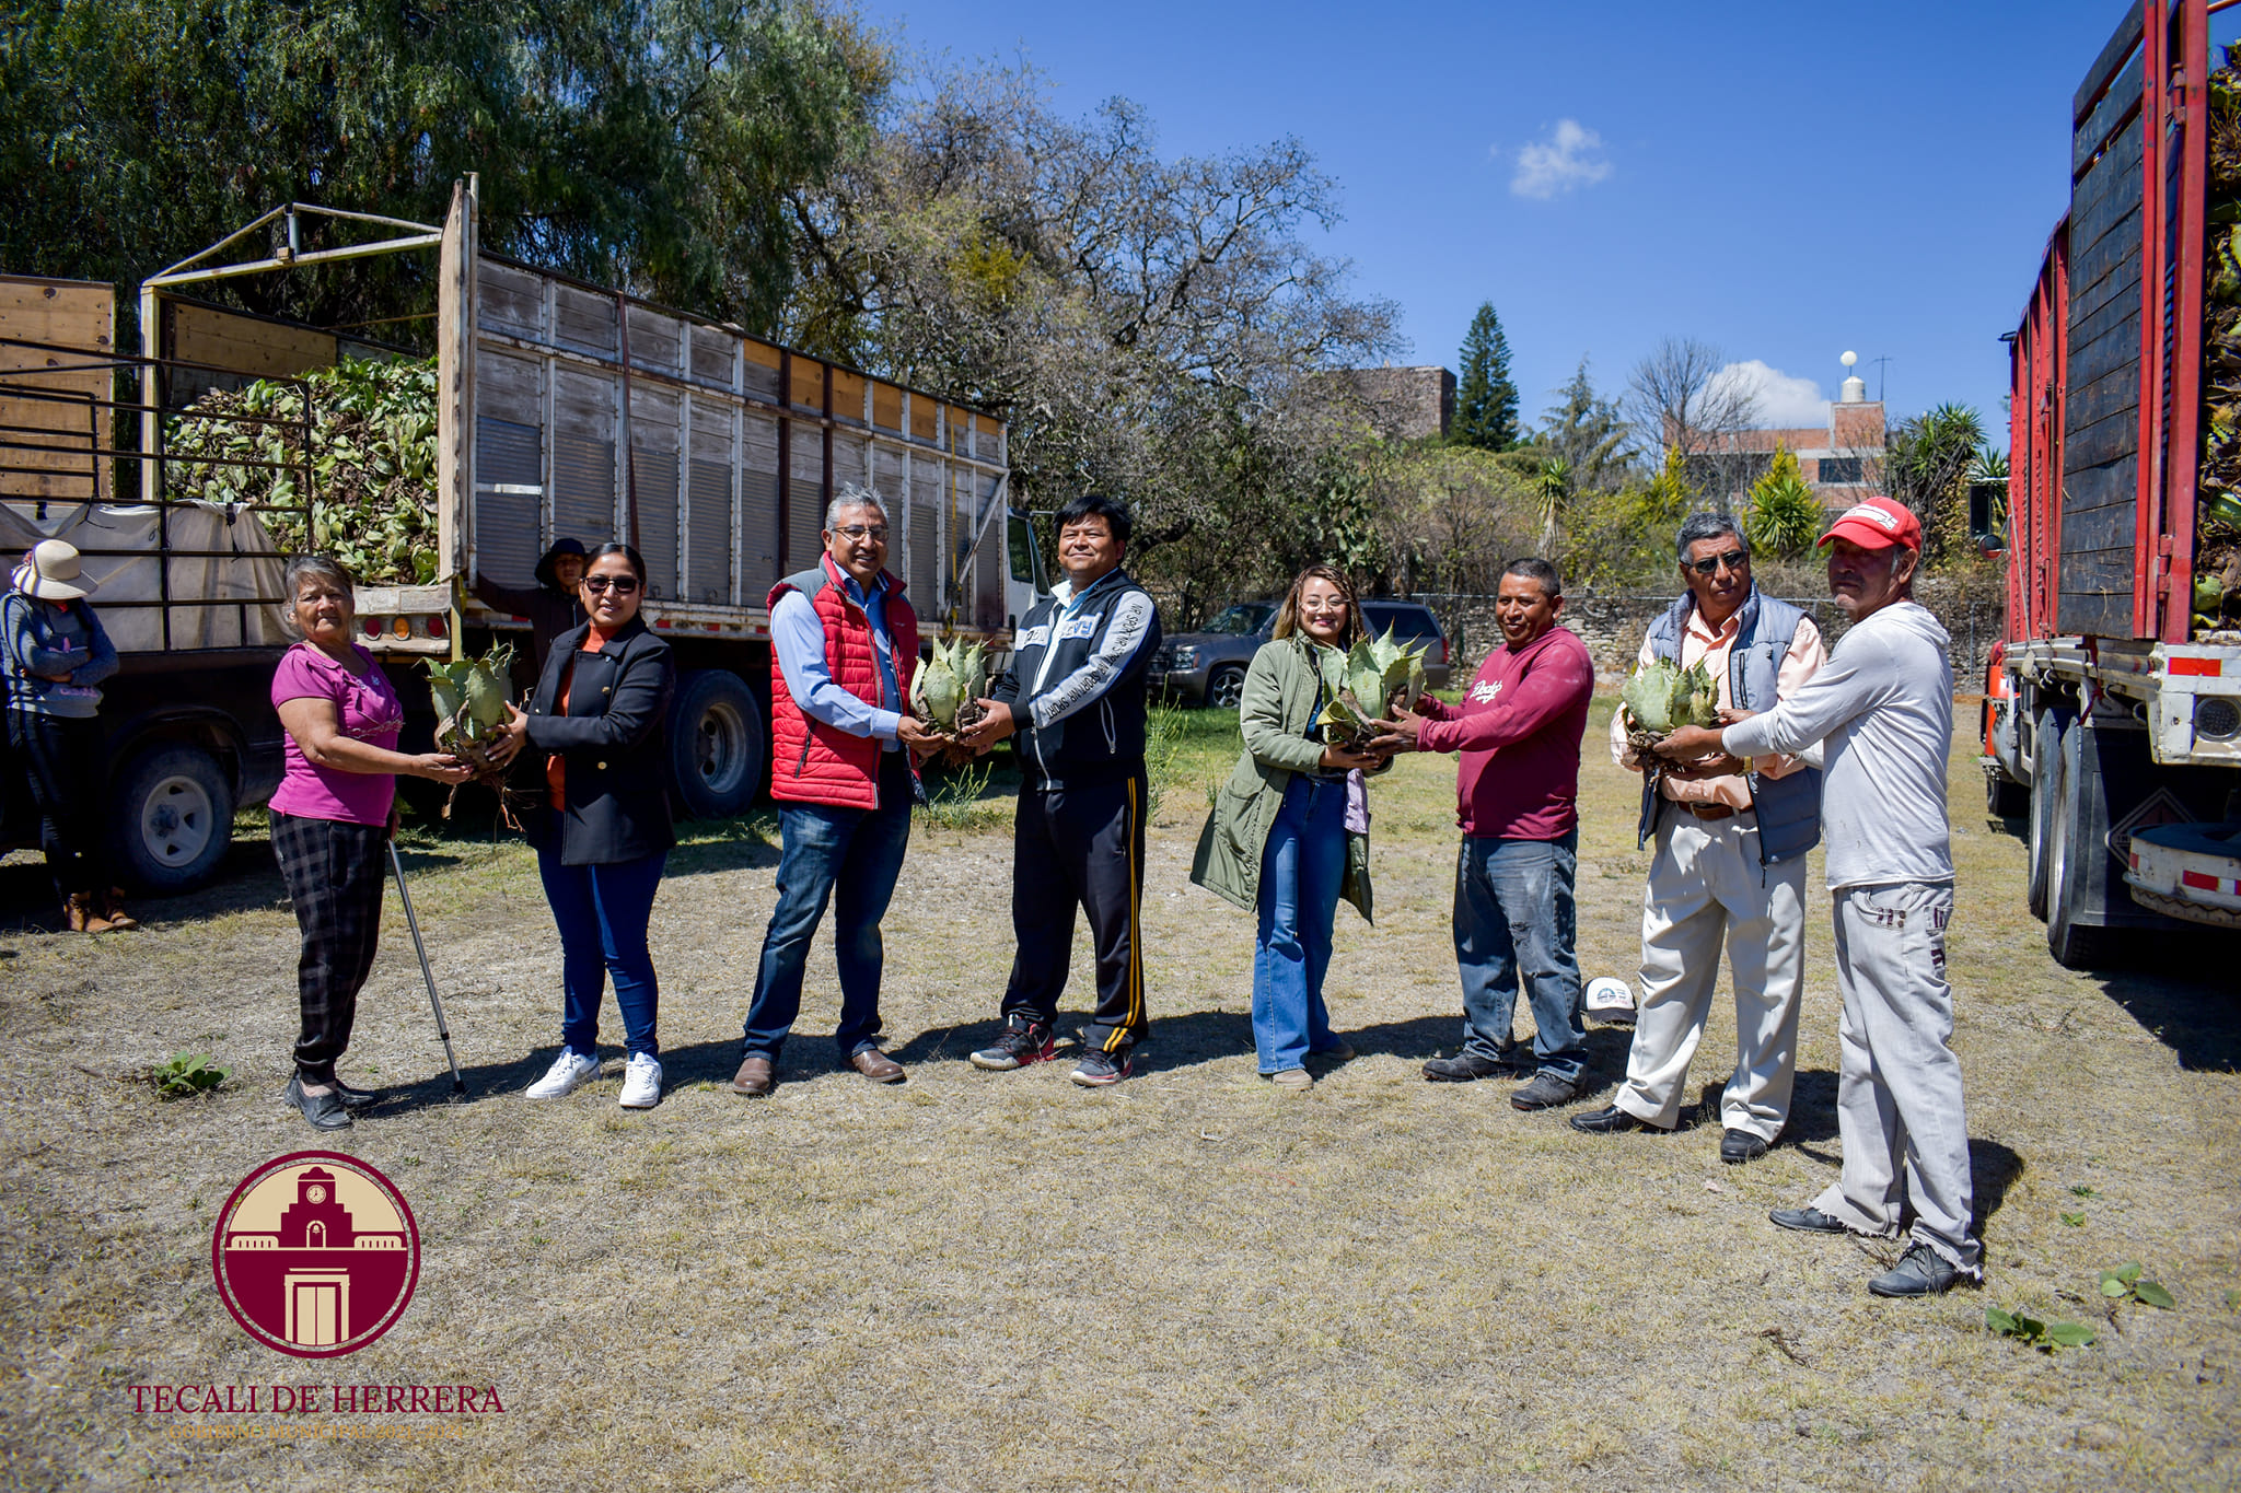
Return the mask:
{"type": "Polygon", "coordinates": [[[2241,199],[2212,166],[2241,78],[2210,51],[2228,4],[2140,0],[2093,60],[2071,210],[2008,338],[1986,801],[2028,813],[2030,911],[2068,967],[2169,949],[2142,933],[2180,920],[2241,927],[2241,553],[2219,481],[2241,199]]]}

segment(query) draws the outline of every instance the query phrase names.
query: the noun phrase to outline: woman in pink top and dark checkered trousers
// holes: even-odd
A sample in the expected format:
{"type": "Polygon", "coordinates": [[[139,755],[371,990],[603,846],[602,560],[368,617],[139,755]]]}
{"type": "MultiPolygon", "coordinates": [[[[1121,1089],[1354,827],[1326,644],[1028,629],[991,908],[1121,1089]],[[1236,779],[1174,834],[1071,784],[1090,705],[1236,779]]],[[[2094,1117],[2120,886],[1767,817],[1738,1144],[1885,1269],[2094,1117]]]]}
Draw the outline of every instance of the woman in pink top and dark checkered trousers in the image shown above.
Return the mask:
{"type": "Polygon", "coordinates": [[[397,750],[406,712],[381,665],[352,640],[350,586],[350,571],[325,555],[289,560],[287,622],[303,640],[273,672],[273,710],[287,727],[287,768],[271,799],[273,857],[303,931],[303,1034],[282,1097],[316,1130],[341,1130],[352,1110],[381,1101],[343,1083],[334,1061],[350,1045],[359,987],[381,938],[397,774],[437,783],[473,777],[444,752],[397,750]]]}

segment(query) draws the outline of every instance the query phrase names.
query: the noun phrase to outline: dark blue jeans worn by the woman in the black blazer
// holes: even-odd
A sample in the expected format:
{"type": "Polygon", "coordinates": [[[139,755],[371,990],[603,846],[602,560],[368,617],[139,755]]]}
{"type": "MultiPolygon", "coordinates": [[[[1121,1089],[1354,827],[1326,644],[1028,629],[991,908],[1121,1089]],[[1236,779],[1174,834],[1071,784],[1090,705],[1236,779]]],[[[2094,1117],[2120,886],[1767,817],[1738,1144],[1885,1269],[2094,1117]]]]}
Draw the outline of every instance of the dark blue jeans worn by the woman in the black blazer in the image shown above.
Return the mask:
{"type": "Polygon", "coordinates": [[[632,1057],[659,1057],[654,1014],[654,956],[645,949],[645,924],[661,891],[668,851],[654,851],[612,866],[562,866],[560,846],[538,851],[545,900],[560,924],[560,1041],[569,1052],[598,1057],[598,996],[614,976],[614,1005],[623,1012],[623,1045],[632,1057]]]}

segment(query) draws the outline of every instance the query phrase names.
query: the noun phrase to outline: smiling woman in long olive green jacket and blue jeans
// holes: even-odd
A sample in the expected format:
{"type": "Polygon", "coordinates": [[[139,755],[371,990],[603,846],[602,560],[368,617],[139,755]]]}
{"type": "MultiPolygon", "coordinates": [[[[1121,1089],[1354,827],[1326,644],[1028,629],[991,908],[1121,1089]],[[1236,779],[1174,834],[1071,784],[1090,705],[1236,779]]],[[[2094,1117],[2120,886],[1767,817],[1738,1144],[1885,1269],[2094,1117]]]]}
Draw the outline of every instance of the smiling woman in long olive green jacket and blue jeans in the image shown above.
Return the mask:
{"type": "Polygon", "coordinates": [[[1347,1052],[1331,1034],[1322,976],[1338,900],[1369,918],[1363,772],[1385,759],[1324,745],[1313,732],[1360,636],[1347,578],[1327,564],[1300,571],[1273,631],[1246,669],[1237,705],[1246,750],[1199,833],[1190,880],[1259,913],[1253,1048],[1262,1077],[1304,1090],[1311,1052],[1347,1052]]]}

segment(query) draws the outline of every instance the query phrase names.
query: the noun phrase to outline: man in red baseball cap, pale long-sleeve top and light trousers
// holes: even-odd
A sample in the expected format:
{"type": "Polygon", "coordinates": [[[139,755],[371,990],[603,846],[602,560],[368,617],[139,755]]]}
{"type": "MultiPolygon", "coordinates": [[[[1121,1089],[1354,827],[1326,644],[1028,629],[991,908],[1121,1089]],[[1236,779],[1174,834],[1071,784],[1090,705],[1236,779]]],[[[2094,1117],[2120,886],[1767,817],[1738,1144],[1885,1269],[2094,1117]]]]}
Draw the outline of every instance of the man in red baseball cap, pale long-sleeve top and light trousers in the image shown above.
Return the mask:
{"type": "Polygon", "coordinates": [[[1853,504],[1829,533],[1829,591],[1851,618],[1829,665],[1766,714],[1685,725],[1658,752],[1764,757],[1822,743],[1822,844],[1835,900],[1838,1133],[1844,1171],[1773,1222],[1808,1233],[1898,1238],[1898,1265],[1867,1289],[1934,1296],[1983,1278],[1970,1231],[1968,1121],[1945,983],[1954,862],[1945,754],[1954,730],[1952,638],[1914,600],[1923,526],[1889,497],[1853,504]]]}

